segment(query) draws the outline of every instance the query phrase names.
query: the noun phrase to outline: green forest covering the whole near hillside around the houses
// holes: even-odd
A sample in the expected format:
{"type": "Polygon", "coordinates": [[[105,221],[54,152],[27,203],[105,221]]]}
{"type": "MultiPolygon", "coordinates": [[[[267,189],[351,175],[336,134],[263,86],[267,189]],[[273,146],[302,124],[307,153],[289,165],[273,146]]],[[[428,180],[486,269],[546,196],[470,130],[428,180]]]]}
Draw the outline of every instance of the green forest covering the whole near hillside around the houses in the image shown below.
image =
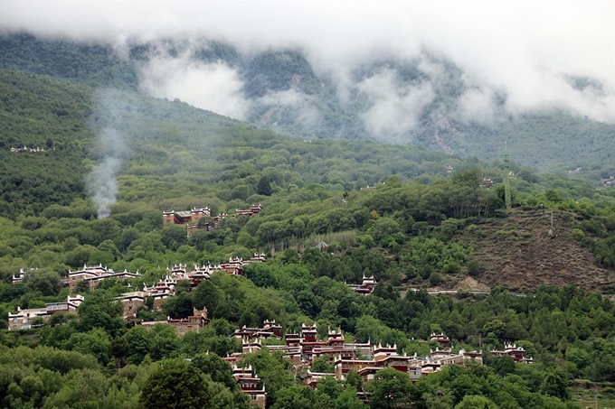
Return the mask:
{"type": "MultiPolygon", "coordinates": [[[[244,354],[241,365],[260,376],[270,408],[615,403],[613,187],[522,166],[512,155],[513,209],[506,209],[501,153],[485,163],[421,146],[305,140],[179,100],[92,85],[0,71],[3,406],[247,408],[222,358],[241,352],[229,334],[265,320],[285,332],[317,323],[321,339],[339,328],[346,340],[419,356],[437,346],[430,334],[443,332],[455,349],[481,349],[485,364],[443,367],[416,383],[394,369],[369,381],[351,372],[312,389],[302,386],[307,371],[279,354],[244,354]],[[254,204],[262,206],[258,215],[229,216],[190,237],[185,226],[163,227],[163,211],[233,215],[254,204]],[[107,209],[109,217],[99,218],[107,209]],[[497,267],[526,258],[522,250],[506,253],[512,247],[553,257],[564,248],[584,258],[535,273],[542,284],[533,276],[513,284],[497,267]],[[167,267],[255,253],[267,261],[246,265],[243,276],[218,272],[194,288],[178,284],[161,309],[146,305],[136,320],[122,318],[116,297],[155,284],[167,267]],[[84,265],[141,276],[103,281],[91,292],[78,284],[73,294],[85,300],[76,314],[8,330],[9,313],[65,302],[62,278],[84,265]],[[13,284],[20,269],[24,281],[13,284]],[[562,283],[564,270],[574,278],[562,283]],[[374,293],[346,285],[372,275],[374,293]],[[434,293],[468,277],[489,288],[434,293]],[[203,307],[212,321],[198,333],[138,325],[203,307]],[[534,363],[491,357],[509,342],[534,363]],[[199,393],[184,395],[191,390],[199,393]]],[[[331,367],[317,360],[312,371],[331,367]]]]}

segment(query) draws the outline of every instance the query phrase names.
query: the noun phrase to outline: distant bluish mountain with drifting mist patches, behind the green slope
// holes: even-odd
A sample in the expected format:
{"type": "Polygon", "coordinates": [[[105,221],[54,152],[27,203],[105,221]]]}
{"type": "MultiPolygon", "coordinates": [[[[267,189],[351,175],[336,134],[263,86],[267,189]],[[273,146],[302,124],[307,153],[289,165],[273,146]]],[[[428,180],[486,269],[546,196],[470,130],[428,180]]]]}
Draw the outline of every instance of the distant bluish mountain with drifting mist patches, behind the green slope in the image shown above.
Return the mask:
{"type": "MultiPolygon", "coordinates": [[[[209,39],[114,47],[21,33],[0,38],[0,51],[4,69],[156,96],[180,92],[189,103],[213,100],[214,112],[231,109],[226,115],[287,135],[421,144],[487,162],[498,161],[507,147],[524,166],[581,168],[596,182],[615,173],[615,125],[557,108],[513,116],[506,93],[482,94],[454,63],[429,52],[405,60],[374,56],[342,76],[317,70],[300,50],[247,52],[209,39]]],[[[591,79],[570,81],[600,91],[591,79]]]]}

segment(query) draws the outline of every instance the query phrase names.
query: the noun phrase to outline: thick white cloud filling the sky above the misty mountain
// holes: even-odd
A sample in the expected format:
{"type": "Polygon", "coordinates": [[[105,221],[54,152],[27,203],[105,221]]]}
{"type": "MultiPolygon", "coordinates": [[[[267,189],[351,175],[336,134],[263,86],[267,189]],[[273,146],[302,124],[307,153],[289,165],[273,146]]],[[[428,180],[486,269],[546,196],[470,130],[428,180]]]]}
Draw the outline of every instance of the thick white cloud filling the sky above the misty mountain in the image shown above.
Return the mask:
{"type": "MultiPolygon", "coordinates": [[[[249,52],[300,47],[314,69],[337,76],[340,87],[347,79],[345,72],[358,61],[392,54],[412,57],[426,49],[453,60],[466,72],[468,83],[476,85],[459,100],[460,109],[469,116],[484,116],[490,96],[503,90],[511,112],[562,107],[615,122],[613,0],[0,0],[0,27],[118,43],[131,37],[198,34],[232,42],[249,52]],[[579,91],[570,86],[570,76],[597,79],[602,88],[579,91]]],[[[212,87],[213,82],[226,79],[230,96],[235,95],[233,89],[241,88],[224,67],[192,67],[185,75],[192,79],[204,75],[212,87]]],[[[368,89],[377,81],[359,86],[368,89]]],[[[182,87],[171,81],[164,87],[171,90],[159,94],[181,92],[182,87]]],[[[418,91],[430,95],[430,89],[418,91]]],[[[417,105],[408,92],[397,98],[402,106],[417,105]]],[[[229,110],[244,109],[241,101],[229,104],[229,110]]],[[[379,110],[390,111],[382,104],[374,116],[381,115],[379,110]]]]}

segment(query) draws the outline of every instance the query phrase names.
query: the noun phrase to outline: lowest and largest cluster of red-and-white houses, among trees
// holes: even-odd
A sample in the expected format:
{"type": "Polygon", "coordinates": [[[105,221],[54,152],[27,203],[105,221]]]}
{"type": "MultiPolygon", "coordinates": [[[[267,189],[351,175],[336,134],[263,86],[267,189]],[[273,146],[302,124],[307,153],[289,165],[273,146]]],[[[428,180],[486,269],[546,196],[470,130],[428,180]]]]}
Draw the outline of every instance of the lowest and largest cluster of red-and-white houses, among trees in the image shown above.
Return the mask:
{"type": "MultiPolygon", "coordinates": [[[[421,376],[438,372],[447,365],[464,365],[467,361],[480,364],[483,362],[482,351],[460,349],[455,353],[450,347],[450,340],[443,334],[435,333],[431,335],[430,341],[436,342],[438,346],[430,349],[430,355],[426,357],[419,357],[416,353],[412,356],[400,354],[396,345],[373,345],[370,341],[359,343],[356,340],[346,342],[342,330],[339,329],[328,329],[326,340],[318,340],[316,324],[303,324],[299,333],[283,334],[281,325],[275,321],[265,321],[262,328],[244,326],[235,330],[232,337],[241,339],[241,353],[223,359],[232,366],[233,376],[241,385],[241,390],[251,395],[253,404],[263,408],[267,397],[265,386],[260,383],[259,377],[252,373],[251,367],[238,367],[241,354],[258,352],[260,349],[280,351],[291,363],[295,376],[300,371],[303,384],[311,387],[316,387],[325,376],[344,380],[351,371],[368,381],[374,379],[375,374],[384,367],[407,373],[412,382],[416,382],[421,376]],[[262,339],[269,338],[278,339],[279,345],[263,345],[262,339]],[[312,372],[310,367],[317,358],[326,358],[333,364],[334,372],[312,372]]],[[[491,354],[508,355],[516,362],[532,363],[532,358],[525,357],[525,349],[515,345],[507,344],[504,350],[494,349],[491,354]]],[[[359,395],[368,398],[363,393],[359,395]]]]}

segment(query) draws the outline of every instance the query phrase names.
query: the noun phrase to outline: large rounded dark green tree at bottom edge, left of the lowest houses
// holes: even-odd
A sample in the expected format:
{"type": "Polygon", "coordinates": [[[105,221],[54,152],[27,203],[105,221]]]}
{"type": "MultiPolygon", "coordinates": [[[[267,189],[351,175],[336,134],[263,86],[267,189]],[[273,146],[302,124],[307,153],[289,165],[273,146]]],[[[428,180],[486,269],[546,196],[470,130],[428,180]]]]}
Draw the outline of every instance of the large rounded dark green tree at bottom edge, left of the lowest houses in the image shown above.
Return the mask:
{"type": "Polygon", "coordinates": [[[163,361],[147,378],[139,403],[144,407],[193,409],[212,407],[205,378],[192,364],[163,361]]]}

